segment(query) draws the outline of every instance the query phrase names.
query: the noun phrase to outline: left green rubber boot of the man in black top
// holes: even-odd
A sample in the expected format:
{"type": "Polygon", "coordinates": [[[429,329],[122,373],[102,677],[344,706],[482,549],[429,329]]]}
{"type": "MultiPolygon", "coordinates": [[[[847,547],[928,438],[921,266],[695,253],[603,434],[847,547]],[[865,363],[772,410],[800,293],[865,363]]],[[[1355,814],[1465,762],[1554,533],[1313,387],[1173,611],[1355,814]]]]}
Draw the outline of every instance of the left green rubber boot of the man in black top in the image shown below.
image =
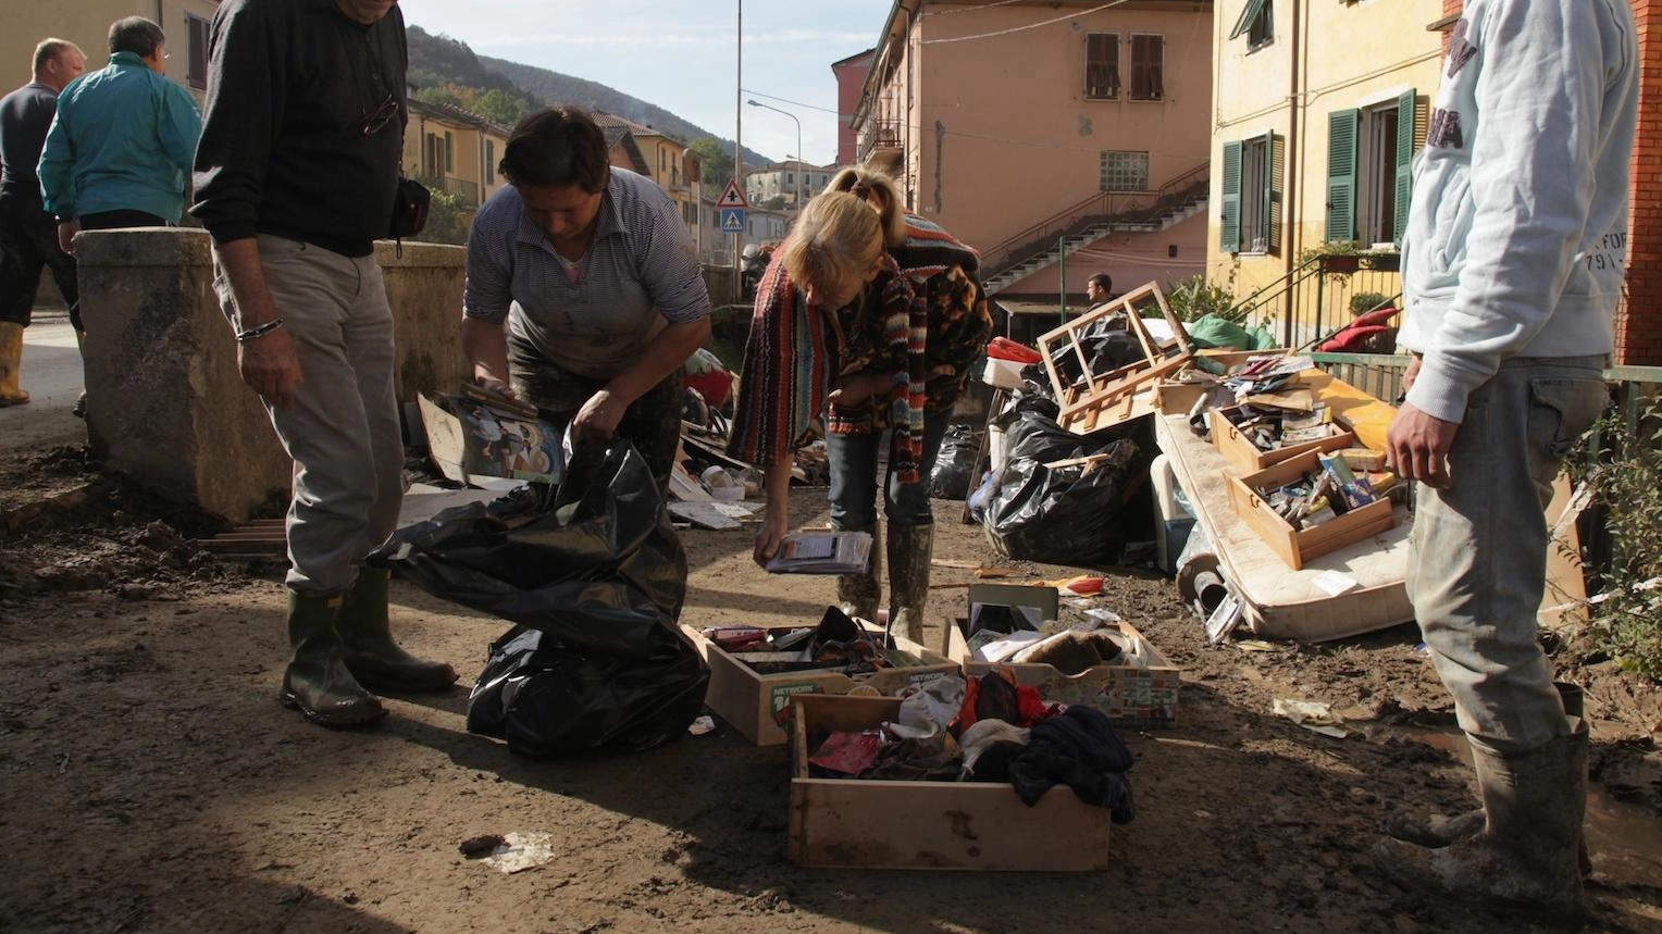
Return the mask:
{"type": "Polygon", "coordinates": [[[334,622],[341,597],[289,592],[289,668],[278,700],[321,726],[361,726],[387,710],[346,670],[346,645],[334,622]]]}

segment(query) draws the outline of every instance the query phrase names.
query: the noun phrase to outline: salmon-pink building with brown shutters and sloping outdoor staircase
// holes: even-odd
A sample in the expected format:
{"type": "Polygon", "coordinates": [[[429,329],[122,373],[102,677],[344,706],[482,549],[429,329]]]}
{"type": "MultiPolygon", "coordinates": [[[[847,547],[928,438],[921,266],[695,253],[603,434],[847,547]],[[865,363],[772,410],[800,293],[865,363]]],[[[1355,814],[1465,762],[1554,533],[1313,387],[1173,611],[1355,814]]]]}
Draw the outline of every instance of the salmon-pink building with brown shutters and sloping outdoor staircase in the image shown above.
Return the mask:
{"type": "Polygon", "coordinates": [[[979,249],[994,296],[1205,269],[1212,3],[1100,5],[897,0],[873,50],[853,156],[979,249]]]}

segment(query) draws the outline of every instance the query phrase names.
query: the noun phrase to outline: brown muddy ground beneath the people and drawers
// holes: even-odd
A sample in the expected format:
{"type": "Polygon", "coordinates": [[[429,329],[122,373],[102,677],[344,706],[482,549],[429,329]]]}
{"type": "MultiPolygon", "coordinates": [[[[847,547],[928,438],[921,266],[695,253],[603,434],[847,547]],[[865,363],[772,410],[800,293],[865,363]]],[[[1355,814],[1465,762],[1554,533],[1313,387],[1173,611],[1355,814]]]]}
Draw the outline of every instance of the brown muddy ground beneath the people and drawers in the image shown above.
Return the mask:
{"type": "MultiPolygon", "coordinates": [[[[635,756],[537,763],[465,731],[465,690],[391,698],[336,733],[276,705],[276,567],[228,565],[211,524],[100,479],[76,449],[0,465],[0,931],[597,932],[1532,931],[1374,877],[1394,808],[1473,804],[1453,715],[1411,628],[1271,651],[1208,648],[1170,582],[1109,575],[1100,607],[1185,671],[1180,721],[1130,733],[1137,819],[1100,874],[808,871],[784,861],[786,756],[731,728],[635,756]],[[1270,713],[1330,703],[1345,740],[1270,713]],[[457,844],[540,831],[500,874],[457,844]]],[[[823,520],[824,490],[794,519],[823,520]]],[[[956,517],[957,504],[942,504],[956,517]]],[[[811,622],[824,578],[750,562],[750,532],[683,532],[685,620],[811,622]]],[[[944,520],[936,582],[1072,568],[997,562],[944,520]]],[[[472,683],[505,627],[396,582],[406,645],[472,683]]],[[[931,617],[957,612],[937,590],[931,617]]],[[[931,640],[937,633],[931,633],[931,640]]],[[[1662,931],[1654,685],[1569,665],[1596,723],[1591,931],[1662,931]]],[[[1019,803],[1012,799],[1012,808],[1019,803]]]]}

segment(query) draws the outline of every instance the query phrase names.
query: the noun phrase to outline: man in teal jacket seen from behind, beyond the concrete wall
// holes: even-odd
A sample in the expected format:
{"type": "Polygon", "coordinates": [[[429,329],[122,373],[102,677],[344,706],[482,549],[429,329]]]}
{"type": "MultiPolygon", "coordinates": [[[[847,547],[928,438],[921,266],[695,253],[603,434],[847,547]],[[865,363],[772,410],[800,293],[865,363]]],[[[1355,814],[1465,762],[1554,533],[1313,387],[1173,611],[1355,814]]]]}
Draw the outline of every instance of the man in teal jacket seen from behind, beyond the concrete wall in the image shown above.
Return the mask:
{"type": "Polygon", "coordinates": [[[184,209],[203,123],[165,76],[165,42],[143,17],[116,20],[110,63],[58,95],[38,175],[65,253],[78,231],[175,224],[184,209]]]}

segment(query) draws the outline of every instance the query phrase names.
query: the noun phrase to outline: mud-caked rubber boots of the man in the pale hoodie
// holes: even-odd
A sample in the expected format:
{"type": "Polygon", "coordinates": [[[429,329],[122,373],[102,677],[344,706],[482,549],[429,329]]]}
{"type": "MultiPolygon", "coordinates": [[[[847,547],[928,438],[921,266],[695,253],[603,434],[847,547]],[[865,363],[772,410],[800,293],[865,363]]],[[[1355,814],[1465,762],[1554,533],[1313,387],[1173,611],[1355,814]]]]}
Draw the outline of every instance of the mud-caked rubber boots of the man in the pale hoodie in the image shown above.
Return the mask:
{"type": "Polygon", "coordinates": [[[1453,899],[1576,917],[1582,911],[1581,823],[1587,806],[1587,725],[1526,753],[1473,743],[1487,819],[1441,849],[1381,839],[1374,863],[1399,884],[1453,899]]]}

